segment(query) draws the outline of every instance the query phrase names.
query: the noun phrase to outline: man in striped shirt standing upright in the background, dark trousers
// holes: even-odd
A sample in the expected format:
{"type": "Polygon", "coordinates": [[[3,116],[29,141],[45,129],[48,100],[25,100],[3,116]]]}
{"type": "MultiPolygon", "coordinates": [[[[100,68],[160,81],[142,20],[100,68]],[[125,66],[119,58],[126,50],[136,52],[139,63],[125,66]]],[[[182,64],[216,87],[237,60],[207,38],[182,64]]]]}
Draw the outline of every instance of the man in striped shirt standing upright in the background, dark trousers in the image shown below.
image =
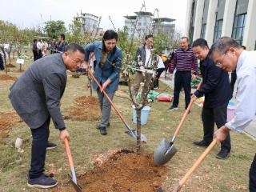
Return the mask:
{"type": "Polygon", "coordinates": [[[180,39],[181,48],[174,54],[174,65],[171,71],[176,68],[174,77],[174,102],[169,110],[178,109],[179,94],[182,87],[185,91],[185,109],[190,104],[191,78],[198,74],[198,60],[194,57],[193,51],[189,46],[189,39],[182,37],[180,39]],[[192,71],[194,70],[194,71],[192,71]]]}

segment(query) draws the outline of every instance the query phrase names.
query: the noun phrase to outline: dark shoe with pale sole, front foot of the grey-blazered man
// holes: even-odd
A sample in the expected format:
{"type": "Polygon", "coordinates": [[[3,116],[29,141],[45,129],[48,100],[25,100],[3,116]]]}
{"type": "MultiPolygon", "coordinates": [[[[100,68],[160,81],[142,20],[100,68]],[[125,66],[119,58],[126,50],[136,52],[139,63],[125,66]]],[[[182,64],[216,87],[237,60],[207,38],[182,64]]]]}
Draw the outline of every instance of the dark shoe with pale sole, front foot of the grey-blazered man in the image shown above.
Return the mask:
{"type": "Polygon", "coordinates": [[[50,178],[45,174],[42,174],[39,178],[28,178],[27,186],[38,187],[42,189],[51,188],[57,186],[58,182],[54,178],[50,178]]]}

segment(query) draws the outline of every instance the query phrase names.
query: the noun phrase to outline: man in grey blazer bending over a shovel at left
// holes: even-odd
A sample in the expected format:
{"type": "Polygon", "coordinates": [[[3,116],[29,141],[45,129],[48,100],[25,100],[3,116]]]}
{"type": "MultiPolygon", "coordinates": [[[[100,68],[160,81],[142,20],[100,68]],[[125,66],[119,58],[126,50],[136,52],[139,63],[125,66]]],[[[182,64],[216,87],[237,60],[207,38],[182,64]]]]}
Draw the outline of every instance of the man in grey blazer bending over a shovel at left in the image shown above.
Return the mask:
{"type": "Polygon", "coordinates": [[[76,71],[85,58],[82,46],[71,43],[63,54],[38,59],[10,87],[10,102],[32,133],[31,164],[27,185],[50,188],[57,181],[44,174],[50,118],[59,138],[70,138],[60,110],[66,87],[66,70],[76,71]]]}

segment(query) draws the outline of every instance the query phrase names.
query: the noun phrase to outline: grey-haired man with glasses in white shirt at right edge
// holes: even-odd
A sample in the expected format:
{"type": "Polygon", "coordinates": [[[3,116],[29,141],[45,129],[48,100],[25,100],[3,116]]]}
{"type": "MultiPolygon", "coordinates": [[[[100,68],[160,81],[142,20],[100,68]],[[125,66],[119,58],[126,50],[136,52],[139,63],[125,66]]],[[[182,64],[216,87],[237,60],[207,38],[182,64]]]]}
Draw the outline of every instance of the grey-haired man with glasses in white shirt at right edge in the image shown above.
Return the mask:
{"type": "MultiPolygon", "coordinates": [[[[218,142],[222,142],[230,130],[244,130],[256,114],[256,51],[243,50],[234,39],[223,37],[211,46],[210,56],[222,70],[236,70],[238,76],[238,106],[234,118],[214,133],[218,142]]],[[[250,192],[256,192],[256,154],[250,167],[249,188],[250,192]]]]}

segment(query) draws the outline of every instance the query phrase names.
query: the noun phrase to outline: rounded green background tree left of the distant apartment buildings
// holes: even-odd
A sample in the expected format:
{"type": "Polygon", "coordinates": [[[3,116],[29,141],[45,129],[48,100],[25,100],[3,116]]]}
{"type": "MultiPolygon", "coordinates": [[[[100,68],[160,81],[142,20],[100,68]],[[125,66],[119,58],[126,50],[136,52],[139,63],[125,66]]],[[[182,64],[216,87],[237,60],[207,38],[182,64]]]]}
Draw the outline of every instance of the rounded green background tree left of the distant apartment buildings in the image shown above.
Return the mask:
{"type": "Polygon", "coordinates": [[[61,20],[45,22],[43,29],[50,38],[58,38],[59,34],[66,33],[65,22],[61,20]]]}

